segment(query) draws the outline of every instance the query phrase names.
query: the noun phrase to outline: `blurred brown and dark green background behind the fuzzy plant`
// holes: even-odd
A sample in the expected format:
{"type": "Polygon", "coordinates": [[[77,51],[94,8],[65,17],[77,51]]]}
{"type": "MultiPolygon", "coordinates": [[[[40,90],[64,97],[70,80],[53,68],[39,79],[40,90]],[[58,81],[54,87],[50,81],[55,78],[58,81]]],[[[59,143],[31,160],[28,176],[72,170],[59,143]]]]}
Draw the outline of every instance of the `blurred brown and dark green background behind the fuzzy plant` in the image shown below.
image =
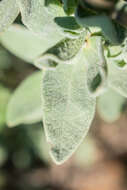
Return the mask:
{"type": "Polygon", "coordinates": [[[11,94],[36,70],[0,46],[0,190],[126,190],[126,102],[115,122],[96,112],[89,134],[61,166],[50,159],[42,122],[6,125],[11,94]]]}

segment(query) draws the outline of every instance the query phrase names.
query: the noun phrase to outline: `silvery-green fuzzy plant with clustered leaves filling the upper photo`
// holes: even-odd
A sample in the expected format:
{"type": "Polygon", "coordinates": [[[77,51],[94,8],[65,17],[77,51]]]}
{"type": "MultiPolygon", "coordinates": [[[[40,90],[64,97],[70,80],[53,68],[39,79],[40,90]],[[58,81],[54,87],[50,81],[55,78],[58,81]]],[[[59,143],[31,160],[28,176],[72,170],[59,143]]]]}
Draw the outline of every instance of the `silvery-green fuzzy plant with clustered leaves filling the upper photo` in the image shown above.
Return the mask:
{"type": "Polygon", "coordinates": [[[127,97],[127,2],[2,0],[0,42],[40,71],[13,93],[7,124],[43,120],[55,163],[86,136],[97,108],[116,120],[127,97]],[[21,14],[22,23],[14,23],[21,14]],[[11,26],[10,26],[11,25],[11,26]]]}

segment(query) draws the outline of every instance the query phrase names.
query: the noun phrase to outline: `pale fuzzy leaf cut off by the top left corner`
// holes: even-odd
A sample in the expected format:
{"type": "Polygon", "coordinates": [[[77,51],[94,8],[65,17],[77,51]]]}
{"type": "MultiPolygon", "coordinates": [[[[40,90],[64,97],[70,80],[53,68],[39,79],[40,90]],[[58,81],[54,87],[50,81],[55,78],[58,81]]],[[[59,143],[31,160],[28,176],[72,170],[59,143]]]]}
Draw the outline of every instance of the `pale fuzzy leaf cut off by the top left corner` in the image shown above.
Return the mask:
{"type": "Polygon", "coordinates": [[[0,1],[0,32],[3,32],[11,25],[19,14],[16,0],[0,1]]]}

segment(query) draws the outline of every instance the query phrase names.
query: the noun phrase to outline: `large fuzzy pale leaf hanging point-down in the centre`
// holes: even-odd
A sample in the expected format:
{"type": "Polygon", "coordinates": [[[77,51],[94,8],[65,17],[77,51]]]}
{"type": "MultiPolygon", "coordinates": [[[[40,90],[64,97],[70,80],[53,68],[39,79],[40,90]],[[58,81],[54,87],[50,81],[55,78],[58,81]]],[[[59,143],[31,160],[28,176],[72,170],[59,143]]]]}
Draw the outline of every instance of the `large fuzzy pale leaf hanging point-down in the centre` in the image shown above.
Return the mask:
{"type": "Polygon", "coordinates": [[[44,69],[43,123],[52,145],[51,157],[57,164],[77,149],[94,117],[96,99],[87,90],[86,71],[82,52],[73,64],[44,69]]]}

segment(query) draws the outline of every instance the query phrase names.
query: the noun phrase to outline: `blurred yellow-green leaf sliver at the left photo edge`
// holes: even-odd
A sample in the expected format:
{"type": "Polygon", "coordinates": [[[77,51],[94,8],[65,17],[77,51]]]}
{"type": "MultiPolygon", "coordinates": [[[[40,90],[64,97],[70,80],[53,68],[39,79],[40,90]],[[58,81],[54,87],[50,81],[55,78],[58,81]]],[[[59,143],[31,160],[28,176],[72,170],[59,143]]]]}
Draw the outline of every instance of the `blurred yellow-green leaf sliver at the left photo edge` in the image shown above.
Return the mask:
{"type": "Polygon", "coordinates": [[[9,98],[9,90],[0,85],[0,129],[6,123],[6,109],[9,98]]]}

